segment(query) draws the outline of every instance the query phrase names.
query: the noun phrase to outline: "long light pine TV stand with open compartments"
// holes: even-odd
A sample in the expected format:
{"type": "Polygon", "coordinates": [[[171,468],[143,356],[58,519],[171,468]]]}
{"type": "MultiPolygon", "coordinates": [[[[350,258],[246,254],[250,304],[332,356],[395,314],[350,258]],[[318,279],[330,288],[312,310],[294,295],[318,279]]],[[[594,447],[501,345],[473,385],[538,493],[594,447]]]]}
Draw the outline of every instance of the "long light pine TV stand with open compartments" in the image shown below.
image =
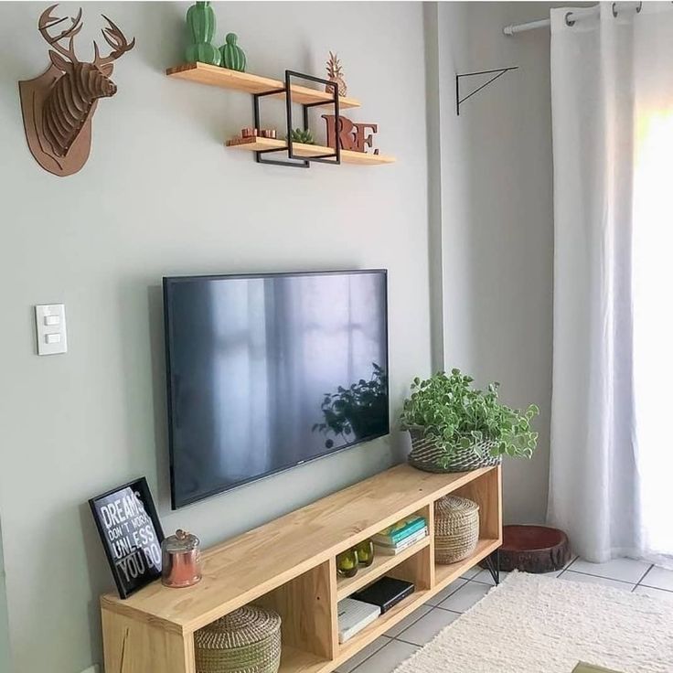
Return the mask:
{"type": "Polygon", "coordinates": [[[105,673],[196,673],[193,634],[255,603],[283,618],[282,673],[329,673],[384,634],[502,542],[500,467],[433,475],[398,465],[227,540],[203,555],[203,580],[187,589],[160,582],[126,600],[101,597],[105,673]],[[480,507],[479,543],[465,561],[434,563],[434,501],[447,493],[480,507]],[[352,578],[337,577],[337,553],[414,513],[430,536],[398,556],[378,556],[352,578]],[[340,645],[337,601],[381,575],[416,591],[340,645]]]}

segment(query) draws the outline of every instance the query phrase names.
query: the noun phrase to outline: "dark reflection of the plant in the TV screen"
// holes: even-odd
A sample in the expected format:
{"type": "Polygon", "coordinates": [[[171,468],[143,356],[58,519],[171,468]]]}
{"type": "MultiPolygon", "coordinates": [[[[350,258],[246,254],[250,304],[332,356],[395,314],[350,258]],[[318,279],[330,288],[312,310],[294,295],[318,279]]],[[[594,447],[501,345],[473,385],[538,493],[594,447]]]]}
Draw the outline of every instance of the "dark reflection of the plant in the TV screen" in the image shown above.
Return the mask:
{"type": "MultiPolygon", "coordinates": [[[[348,388],[339,386],[337,392],[326,392],[321,405],[325,422],[315,423],[313,430],[333,433],[347,442],[384,433],[388,425],[388,377],[376,362],[369,381],[359,379],[348,388]]],[[[328,438],[328,449],[334,440],[328,438]]]]}

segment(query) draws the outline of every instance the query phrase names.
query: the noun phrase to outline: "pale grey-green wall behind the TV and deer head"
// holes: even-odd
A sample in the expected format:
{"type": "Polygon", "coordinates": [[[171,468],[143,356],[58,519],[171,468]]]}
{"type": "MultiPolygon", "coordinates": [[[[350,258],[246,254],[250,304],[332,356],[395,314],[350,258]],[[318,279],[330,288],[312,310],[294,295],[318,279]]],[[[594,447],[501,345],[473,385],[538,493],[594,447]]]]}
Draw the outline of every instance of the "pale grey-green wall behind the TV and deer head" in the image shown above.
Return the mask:
{"type": "Polygon", "coordinates": [[[81,49],[101,12],[137,47],[115,66],[89,163],[57,178],[28,153],[16,87],[47,64],[46,5],[0,4],[0,513],[16,673],[101,660],[97,598],[112,582],[89,497],[147,475],[165,529],[208,545],[401,458],[393,434],[171,513],[162,275],[387,267],[393,412],[430,370],[421,5],[214,4],[219,37],[239,34],[251,71],[320,73],[336,49],[364,103],[349,115],[379,123],[381,152],[399,158],[310,170],[222,147],[251,122],[249,96],[163,76],[181,60],[186,3],[83,5],[81,49]],[[69,353],[37,358],[31,306],[55,302],[69,353]]]}

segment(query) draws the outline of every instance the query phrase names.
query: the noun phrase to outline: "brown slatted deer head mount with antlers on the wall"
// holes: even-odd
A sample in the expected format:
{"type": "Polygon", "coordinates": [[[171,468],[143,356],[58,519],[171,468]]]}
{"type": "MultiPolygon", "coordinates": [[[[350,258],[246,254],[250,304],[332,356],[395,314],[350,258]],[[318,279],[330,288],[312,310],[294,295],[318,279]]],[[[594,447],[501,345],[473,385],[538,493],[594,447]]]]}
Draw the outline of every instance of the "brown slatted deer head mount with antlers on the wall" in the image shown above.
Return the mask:
{"type": "Polygon", "coordinates": [[[24,129],[31,154],[37,163],[56,176],[77,173],[89,158],[91,119],[101,98],[113,96],[117,85],[110,79],[114,61],[134,48],[122,31],[103,15],[108,27],[101,30],[112,52],[101,57],[94,41],[91,63],[75,55],[75,36],[82,28],[81,8],[70,25],[59,34],[50,34],[67,17],[51,16],[57,5],[48,7],[37,22],[45,38],[51,64],[34,80],[18,83],[24,129]],[[63,44],[67,40],[68,46],[63,44]]]}

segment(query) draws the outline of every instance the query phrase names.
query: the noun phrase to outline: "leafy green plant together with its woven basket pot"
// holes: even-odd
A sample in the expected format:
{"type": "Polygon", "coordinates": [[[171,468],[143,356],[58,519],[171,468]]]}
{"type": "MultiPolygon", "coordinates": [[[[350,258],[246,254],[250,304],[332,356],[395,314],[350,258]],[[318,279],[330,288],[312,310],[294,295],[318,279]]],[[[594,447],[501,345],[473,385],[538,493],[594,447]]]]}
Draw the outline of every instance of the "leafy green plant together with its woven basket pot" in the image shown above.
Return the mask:
{"type": "Polygon", "coordinates": [[[411,465],[428,472],[464,472],[498,465],[503,455],[532,456],[538,433],[530,422],[538,407],[511,409],[498,400],[498,383],[475,390],[473,380],[460,369],[413,379],[401,413],[402,429],[411,434],[411,465]]]}

